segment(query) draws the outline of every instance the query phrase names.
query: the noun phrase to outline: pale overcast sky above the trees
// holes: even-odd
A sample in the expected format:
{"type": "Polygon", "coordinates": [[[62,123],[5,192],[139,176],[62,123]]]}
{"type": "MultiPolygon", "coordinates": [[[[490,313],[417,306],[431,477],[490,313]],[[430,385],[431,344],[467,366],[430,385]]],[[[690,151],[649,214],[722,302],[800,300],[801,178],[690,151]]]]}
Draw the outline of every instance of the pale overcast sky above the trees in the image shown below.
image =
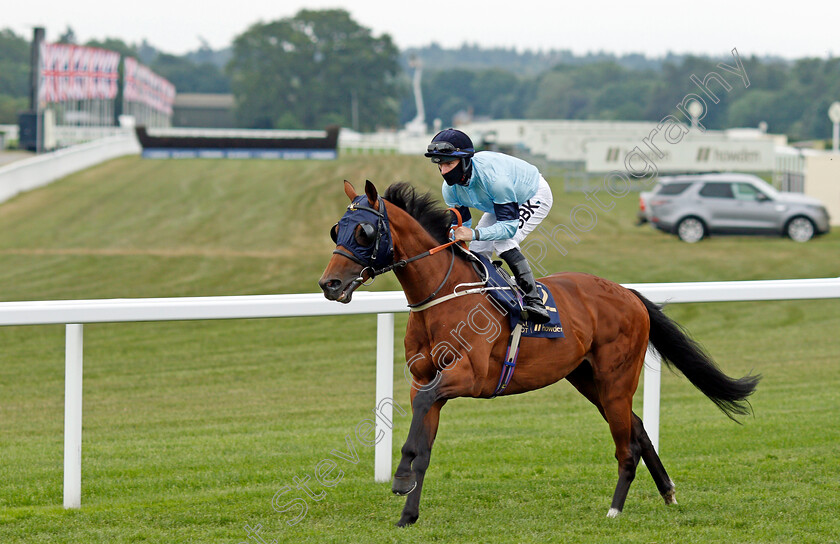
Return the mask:
{"type": "Polygon", "coordinates": [[[291,17],[301,8],[341,7],[401,49],[436,42],[575,53],[674,53],[826,58],[840,54],[840,2],[630,0],[0,0],[0,29],[31,36],[44,26],[54,41],[70,26],[80,42],[144,38],[174,54],[219,49],[255,22],[291,17]],[[828,6],[834,7],[828,7],[828,6]],[[198,8],[196,8],[198,6],[198,8]],[[761,7],[757,7],[761,6],[761,7]]]}

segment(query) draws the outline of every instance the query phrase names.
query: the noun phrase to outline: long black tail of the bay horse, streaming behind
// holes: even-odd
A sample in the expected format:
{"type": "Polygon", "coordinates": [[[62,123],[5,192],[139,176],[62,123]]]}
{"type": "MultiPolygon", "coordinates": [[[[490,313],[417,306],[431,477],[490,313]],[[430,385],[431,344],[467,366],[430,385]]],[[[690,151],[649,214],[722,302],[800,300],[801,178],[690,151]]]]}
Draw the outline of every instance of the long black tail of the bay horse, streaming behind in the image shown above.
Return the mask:
{"type": "Polygon", "coordinates": [[[750,414],[752,406],[746,399],[755,391],[761,376],[747,375],[737,380],[730,378],[659,306],[639,292],[631,291],[647,308],[650,316],[650,343],[668,366],[682,372],[731,420],[737,422],[736,415],[750,414]]]}

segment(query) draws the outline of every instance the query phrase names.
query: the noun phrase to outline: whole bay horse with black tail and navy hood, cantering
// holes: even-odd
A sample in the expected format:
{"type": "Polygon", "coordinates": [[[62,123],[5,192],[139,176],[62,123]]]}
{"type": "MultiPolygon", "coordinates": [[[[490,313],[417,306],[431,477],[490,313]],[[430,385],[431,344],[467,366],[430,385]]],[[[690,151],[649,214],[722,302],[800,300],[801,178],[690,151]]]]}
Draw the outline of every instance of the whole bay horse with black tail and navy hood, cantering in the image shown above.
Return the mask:
{"type": "MultiPolygon", "coordinates": [[[[485,295],[447,296],[464,284],[476,285],[479,274],[461,254],[466,251],[440,251],[449,242],[452,214],[430,194],[397,183],[380,198],[370,181],[362,195],[346,181],[344,190],[351,204],[331,231],[336,249],[319,281],[324,296],[349,303],[356,288],[393,270],[414,308],[405,335],[414,381],[412,419],[392,486],[395,494],[407,496],[397,522],[402,527],[419,516],[441,408],[458,397],[496,396],[511,329],[485,295]]],[[[540,281],[554,296],[566,336],[522,338],[516,372],[502,394],[565,378],[595,405],[615,442],[618,484],[607,516],[624,508],[640,458],[665,503],[675,504],[674,483],[632,410],[648,341],[733,420],[751,412],[746,399],[760,376],[725,375],[677,323],[634,290],[576,272],[540,281]]]]}

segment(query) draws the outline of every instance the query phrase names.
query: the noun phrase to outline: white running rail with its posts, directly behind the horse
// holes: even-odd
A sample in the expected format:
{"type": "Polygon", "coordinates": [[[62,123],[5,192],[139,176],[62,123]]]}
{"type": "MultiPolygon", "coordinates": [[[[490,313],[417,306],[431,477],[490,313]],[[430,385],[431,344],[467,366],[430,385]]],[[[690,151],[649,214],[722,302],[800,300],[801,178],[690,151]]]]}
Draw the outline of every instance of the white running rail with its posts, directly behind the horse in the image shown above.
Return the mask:
{"type": "MultiPolygon", "coordinates": [[[[657,303],[731,302],[840,298],[840,278],[712,283],[630,284],[657,303]]],[[[357,293],[352,304],[337,304],[320,294],[237,297],[64,300],[2,302],[0,326],[67,324],[64,396],[64,507],[81,506],[82,489],[82,346],[83,323],[179,321],[378,314],[376,342],[376,404],[392,421],[394,390],[394,314],[407,312],[401,291],[357,293]]],[[[658,356],[648,351],[644,376],[643,420],[659,449],[660,372],[658,356]]],[[[377,418],[374,479],[391,477],[392,432],[377,418]]]]}

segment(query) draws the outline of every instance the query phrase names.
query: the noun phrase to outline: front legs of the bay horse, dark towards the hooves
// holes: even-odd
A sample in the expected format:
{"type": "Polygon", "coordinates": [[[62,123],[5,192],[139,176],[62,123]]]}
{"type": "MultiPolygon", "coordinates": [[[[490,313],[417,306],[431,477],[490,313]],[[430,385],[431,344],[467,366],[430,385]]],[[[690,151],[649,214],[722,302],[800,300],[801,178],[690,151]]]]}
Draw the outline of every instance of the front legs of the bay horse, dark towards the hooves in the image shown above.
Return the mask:
{"type": "Polygon", "coordinates": [[[394,474],[392,490],[397,495],[408,495],[398,527],[417,521],[420,515],[420,495],[423,479],[432,455],[432,444],[440,421],[440,409],[446,399],[439,397],[437,388],[422,390],[413,395],[411,427],[402,447],[402,458],[394,474]]]}

